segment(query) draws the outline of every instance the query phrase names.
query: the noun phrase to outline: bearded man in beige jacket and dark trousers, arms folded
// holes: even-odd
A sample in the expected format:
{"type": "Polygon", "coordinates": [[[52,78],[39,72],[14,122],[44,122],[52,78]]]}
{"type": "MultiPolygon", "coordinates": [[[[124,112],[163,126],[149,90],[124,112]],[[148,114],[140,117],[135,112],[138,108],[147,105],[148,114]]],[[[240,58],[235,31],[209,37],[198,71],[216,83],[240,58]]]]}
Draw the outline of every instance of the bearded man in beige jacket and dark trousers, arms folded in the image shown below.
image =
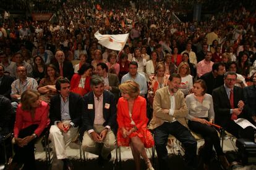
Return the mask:
{"type": "Polygon", "coordinates": [[[176,137],[185,148],[186,163],[189,169],[197,168],[197,141],[187,128],[188,113],[184,94],[179,90],[181,76],[169,76],[168,86],[156,91],[153,101],[153,118],[148,125],[155,131],[155,146],[160,170],[168,168],[166,149],[169,134],[176,137]]]}

